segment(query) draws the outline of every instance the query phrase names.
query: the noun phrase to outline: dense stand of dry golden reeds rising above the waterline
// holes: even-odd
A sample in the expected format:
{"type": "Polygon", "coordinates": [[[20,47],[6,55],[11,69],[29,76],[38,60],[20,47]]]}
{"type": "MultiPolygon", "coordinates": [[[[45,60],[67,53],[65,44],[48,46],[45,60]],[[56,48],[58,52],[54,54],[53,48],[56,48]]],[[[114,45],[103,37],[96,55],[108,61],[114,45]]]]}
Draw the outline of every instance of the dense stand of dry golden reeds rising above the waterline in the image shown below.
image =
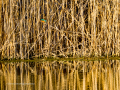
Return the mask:
{"type": "Polygon", "coordinates": [[[0,59],[120,56],[119,3],[1,0],[0,59]]]}

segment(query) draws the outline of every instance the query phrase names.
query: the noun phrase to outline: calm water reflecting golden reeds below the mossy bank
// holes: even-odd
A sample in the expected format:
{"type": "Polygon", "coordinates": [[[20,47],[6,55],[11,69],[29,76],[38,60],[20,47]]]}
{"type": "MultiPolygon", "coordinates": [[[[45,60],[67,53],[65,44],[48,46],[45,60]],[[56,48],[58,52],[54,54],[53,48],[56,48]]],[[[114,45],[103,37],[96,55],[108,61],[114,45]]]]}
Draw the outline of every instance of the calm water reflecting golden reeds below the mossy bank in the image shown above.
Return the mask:
{"type": "Polygon", "coordinates": [[[120,90],[120,61],[1,62],[0,90],[120,90]]]}

